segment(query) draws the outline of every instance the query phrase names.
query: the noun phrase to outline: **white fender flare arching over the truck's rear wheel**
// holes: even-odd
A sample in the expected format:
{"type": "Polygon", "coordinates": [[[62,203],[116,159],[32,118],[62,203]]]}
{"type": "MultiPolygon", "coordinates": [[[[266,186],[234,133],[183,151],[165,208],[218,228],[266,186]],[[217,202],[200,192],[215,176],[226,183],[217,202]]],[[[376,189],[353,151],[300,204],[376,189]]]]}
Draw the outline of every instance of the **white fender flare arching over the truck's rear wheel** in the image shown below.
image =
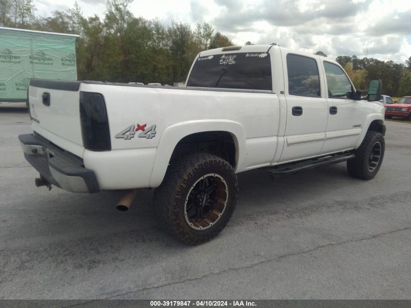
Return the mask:
{"type": "Polygon", "coordinates": [[[170,162],[171,155],[181,139],[184,137],[206,131],[226,131],[229,132],[235,143],[234,171],[241,166],[244,161],[245,132],[243,126],[230,120],[195,120],[181,122],[164,129],[156,151],[153,171],[150,177],[150,187],[157,187],[164,179],[165,172],[170,162]]]}

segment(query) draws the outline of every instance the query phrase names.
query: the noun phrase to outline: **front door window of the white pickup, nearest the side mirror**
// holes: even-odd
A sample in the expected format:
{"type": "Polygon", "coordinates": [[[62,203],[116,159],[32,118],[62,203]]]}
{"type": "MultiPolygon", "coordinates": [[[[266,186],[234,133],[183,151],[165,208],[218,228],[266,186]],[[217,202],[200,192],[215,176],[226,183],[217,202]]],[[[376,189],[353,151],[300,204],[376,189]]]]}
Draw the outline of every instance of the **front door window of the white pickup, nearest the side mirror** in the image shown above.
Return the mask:
{"type": "Polygon", "coordinates": [[[328,97],[351,98],[353,89],[344,71],[333,63],[326,61],[323,63],[325,76],[327,77],[328,97]]]}

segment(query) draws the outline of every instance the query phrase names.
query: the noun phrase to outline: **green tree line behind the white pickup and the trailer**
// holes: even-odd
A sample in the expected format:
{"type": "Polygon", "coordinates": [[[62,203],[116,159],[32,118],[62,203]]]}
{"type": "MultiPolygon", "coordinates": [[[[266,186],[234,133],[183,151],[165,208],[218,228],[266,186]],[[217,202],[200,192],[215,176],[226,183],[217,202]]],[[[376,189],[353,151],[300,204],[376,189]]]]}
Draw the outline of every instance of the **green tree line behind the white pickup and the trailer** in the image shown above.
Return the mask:
{"type": "MultiPolygon", "coordinates": [[[[132,1],[107,0],[100,18],[85,17],[77,2],[66,11],[38,17],[34,0],[0,0],[0,26],[80,35],[76,54],[81,80],[173,84],[185,81],[200,51],[233,45],[206,22],[192,29],[181,22],[164,26],[157,18],[135,17],[129,10],[132,1]]],[[[336,60],[357,89],[365,90],[368,80],[379,78],[384,94],[411,94],[411,56],[405,64],[356,55],[339,55],[336,60]]]]}

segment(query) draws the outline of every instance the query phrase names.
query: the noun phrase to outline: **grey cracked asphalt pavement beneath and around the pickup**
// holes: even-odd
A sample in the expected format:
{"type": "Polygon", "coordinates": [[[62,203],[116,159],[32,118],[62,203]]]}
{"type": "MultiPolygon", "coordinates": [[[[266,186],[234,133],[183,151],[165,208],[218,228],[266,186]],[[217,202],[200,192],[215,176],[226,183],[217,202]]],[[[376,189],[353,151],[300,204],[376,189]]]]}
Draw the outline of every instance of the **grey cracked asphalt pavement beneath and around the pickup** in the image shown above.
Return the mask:
{"type": "Polygon", "coordinates": [[[387,122],[372,181],[345,163],[239,174],[231,222],[191,247],[157,229],[152,191],[122,214],[120,192],[36,188],[24,110],[0,106],[0,299],[411,299],[409,124],[387,122]]]}

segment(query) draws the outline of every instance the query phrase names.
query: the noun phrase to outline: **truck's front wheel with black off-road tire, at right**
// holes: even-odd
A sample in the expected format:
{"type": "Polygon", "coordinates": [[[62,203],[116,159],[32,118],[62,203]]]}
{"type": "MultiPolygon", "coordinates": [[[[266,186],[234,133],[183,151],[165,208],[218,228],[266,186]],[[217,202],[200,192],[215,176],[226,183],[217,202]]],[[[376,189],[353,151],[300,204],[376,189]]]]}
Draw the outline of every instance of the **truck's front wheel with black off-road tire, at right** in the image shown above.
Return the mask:
{"type": "Polygon", "coordinates": [[[353,151],[356,157],[347,161],[348,173],[355,178],[371,180],[381,167],[384,151],[384,136],[376,131],[368,131],[361,145],[353,151]]]}

